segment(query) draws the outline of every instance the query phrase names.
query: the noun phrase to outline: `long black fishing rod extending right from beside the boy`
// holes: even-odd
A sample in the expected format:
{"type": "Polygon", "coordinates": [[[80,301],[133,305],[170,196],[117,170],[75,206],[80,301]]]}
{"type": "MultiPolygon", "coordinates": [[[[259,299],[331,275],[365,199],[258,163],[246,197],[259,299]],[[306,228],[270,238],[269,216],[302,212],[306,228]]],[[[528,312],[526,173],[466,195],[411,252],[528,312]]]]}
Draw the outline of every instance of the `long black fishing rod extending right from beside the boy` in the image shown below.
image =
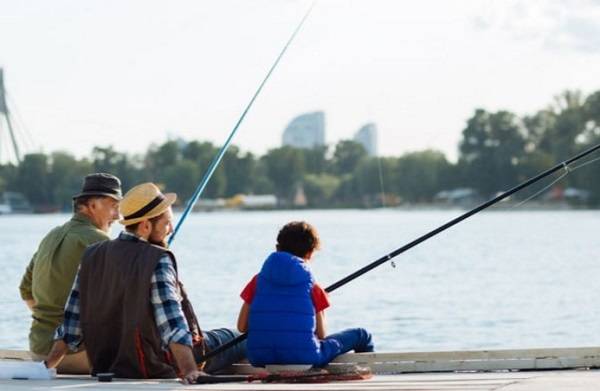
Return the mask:
{"type": "MultiPolygon", "coordinates": [[[[518,186],[513,187],[512,189],[505,191],[504,193],[498,195],[495,198],[492,198],[491,200],[484,202],[483,204],[477,206],[474,209],[471,209],[470,211],[456,217],[453,220],[450,220],[449,222],[447,222],[446,224],[434,229],[433,231],[430,231],[428,233],[426,233],[425,235],[413,240],[412,242],[392,251],[389,254],[384,255],[383,257],[377,259],[374,262],[371,262],[370,264],[368,264],[367,266],[355,271],[354,273],[342,278],[341,280],[339,280],[338,282],[328,286],[327,288],[325,288],[325,292],[329,293],[332,292],[336,289],[338,289],[339,287],[346,285],[347,283],[349,283],[350,281],[362,276],[363,274],[375,269],[377,266],[380,266],[388,261],[390,261],[392,258],[397,257],[398,255],[402,254],[403,252],[417,246],[420,243],[423,243],[424,241],[432,238],[433,236],[439,234],[440,232],[443,232],[445,230],[447,230],[448,228],[460,223],[461,221],[473,216],[474,214],[481,212],[482,210],[489,208],[490,206],[502,201],[505,198],[510,197],[511,195],[515,194],[516,192],[540,181],[541,179],[546,178],[549,175],[554,174],[555,172],[561,170],[561,169],[565,169],[568,170],[569,169],[569,164],[576,162],[577,160],[588,156],[590,154],[592,154],[593,152],[597,151],[600,149],[600,144],[589,148],[581,153],[579,153],[578,155],[575,155],[574,157],[563,161],[562,163],[559,163],[557,165],[555,165],[554,167],[542,172],[541,174],[538,174],[537,176],[521,183],[518,186]]],[[[582,165],[583,166],[583,165],[582,165]]],[[[215,348],[214,350],[210,351],[209,353],[207,353],[206,355],[204,355],[201,360],[200,363],[203,363],[204,361],[216,356],[217,354],[224,352],[225,350],[229,349],[232,346],[237,345],[238,343],[242,342],[243,340],[245,340],[248,337],[247,333],[241,334],[238,337],[232,339],[231,341],[224,343],[221,346],[218,346],[217,348],[215,348]]]]}

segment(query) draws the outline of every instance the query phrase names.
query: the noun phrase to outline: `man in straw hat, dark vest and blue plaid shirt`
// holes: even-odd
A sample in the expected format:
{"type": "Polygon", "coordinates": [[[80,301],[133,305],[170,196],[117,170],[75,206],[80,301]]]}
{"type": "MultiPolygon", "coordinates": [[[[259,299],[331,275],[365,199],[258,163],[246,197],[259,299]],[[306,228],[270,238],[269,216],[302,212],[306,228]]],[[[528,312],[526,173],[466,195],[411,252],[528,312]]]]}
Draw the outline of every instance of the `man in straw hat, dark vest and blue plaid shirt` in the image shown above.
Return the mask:
{"type": "MultiPolygon", "coordinates": [[[[165,245],[176,198],[152,183],[125,194],[120,206],[125,231],[83,255],[64,324],[46,361],[49,368],[84,343],[92,373],[181,377],[191,383],[202,373],[196,360],[239,335],[230,329],[200,330],[175,256],[165,245]]],[[[209,360],[204,370],[219,371],[245,355],[245,344],[239,344],[209,360]]]]}

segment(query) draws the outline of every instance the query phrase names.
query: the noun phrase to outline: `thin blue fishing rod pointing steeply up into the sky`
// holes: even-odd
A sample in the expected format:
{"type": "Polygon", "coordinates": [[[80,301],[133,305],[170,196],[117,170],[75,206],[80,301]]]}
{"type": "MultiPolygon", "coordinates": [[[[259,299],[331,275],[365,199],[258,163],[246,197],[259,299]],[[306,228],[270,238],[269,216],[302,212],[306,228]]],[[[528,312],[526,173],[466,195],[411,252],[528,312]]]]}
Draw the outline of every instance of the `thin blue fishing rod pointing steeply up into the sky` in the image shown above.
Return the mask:
{"type": "Polygon", "coordinates": [[[225,152],[227,152],[227,149],[229,148],[229,145],[231,144],[231,140],[233,140],[233,136],[235,136],[235,134],[237,133],[238,128],[240,127],[240,125],[244,121],[244,118],[246,118],[246,114],[248,114],[248,111],[250,110],[250,108],[254,104],[254,101],[256,100],[256,98],[258,97],[258,95],[262,91],[263,87],[265,86],[265,84],[267,83],[267,81],[269,80],[269,78],[271,77],[271,74],[273,73],[273,71],[275,70],[275,68],[277,67],[277,64],[279,64],[279,61],[281,60],[281,58],[283,57],[283,55],[287,51],[288,47],[290,46],[290,44],[292,43],[292,41],[294,40],[294,38],[296,37],[296,35],[300,31],[300,28],[302,27],[302,25],[304,24],[304,22],[308,18],[308,15],[310,14],[310,12],[312,11],[312,9],[314,8],[316,2],[317,2],[317,0],[314,0],[312,2],[312,4],[310,5],[310,7],[308,8],[308,11],[306,11],[306,13],[304,14],[304,17],[302,18],[302,20],[300,21],[300,23],[298,24],[298,26],[296,27],[296,29],[294,30],[294,32],[292,33],[292,35],[290,36],[290,38],[288,39],[288,41],[286,42],[285,46],[283,47],[283,49],[279,53],[279,56],[277,56],[277,59],[275,60],[275,62],[271,66],[271,68],[269,69],[269,72],[267,72],[267,75],[265,76],[265,78],[263,79],[263,81],[258,86],[256,92],[252,96],[252,99],[250,99],[250,102],[248,102],[248,105],[246,106],[246,108],[242,112],[242,115],[240,116],[240,118],[236,122],[235,126],[233,127],[233,129],[229,133],[229,137],[227,137],[227,140],[225,141],[225,144],[223,144],[223,146],[219,150],[219,153],[217,153],[217,155],[215,156],[215,158],[210,163],[210,165],[208,167],[208,170],[206,170],[206,173],[204,174],[204,177],[200,181],[200,184],[198,185],[198,187],[196,187],[196,190],[194,191],[194,194],[192,195],[192,197],[188,201],[188,203],[187,203],[187,205],[185,207],[185,210],[183,211],[183,214],[179,218],[179,221],[177,222],[177,225],[175,226],[175,229],[173,230],[173,233],[169,237],[169,245],[173,242],[173,240],[175,240],[175,237],[177,236],[177,233],[179,232],[179,229],[181,228],[181,225],[183,224],[183,222],[185,221],[185,219],[187,218],[187,216],[190,214],[190,212],[194,208],[194,205],[198,201],[198,198],[200,198],[200,195],[204,191],[204,188],[206,187],[208,181],[210,180],[210,178],[214,174],[215,170],[217,169],[217,166],[221,162],[221,159],[223,158],[223,155],[225,155],[225,152]]]}

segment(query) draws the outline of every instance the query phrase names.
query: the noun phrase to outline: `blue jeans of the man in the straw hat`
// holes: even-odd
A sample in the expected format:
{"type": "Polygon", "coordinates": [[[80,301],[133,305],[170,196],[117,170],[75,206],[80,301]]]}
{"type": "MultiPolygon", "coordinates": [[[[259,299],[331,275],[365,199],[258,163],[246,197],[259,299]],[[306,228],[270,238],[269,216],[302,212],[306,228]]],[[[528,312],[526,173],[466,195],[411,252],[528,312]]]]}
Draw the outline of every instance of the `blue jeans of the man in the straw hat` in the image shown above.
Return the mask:
{"type": "MultiPolygon", "coordinates": [[[[226,342],[231,341],[235,337],[240,335],[232,329],[215,329],[210,331],[202,331],[202,336],[206,342],[206,352],[209,353],[211,350],[223,345],[226,342]]],[[[198,362],[201,358],[201,353],[197,349],[194,349],[194,358],[198,362]]],[[[206,362],[204,371],[206,373],[216,373],[222,369],[227,368],[231,364],[240,362],[246,358],[246,341],[242,341],[235,346],[217,354],[206,362]]]]}

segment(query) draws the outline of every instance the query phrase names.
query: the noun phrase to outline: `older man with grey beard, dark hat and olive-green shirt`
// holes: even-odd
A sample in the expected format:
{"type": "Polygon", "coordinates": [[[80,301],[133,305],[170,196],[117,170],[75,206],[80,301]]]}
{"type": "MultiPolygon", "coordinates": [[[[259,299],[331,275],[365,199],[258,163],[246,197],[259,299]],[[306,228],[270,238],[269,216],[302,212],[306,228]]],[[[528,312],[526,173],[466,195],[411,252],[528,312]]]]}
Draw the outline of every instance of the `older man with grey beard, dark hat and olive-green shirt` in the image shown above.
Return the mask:
{"type": "MultiPolygon", "coordinates": [[[[81,255],[88,245],[109,239],[110,225],[119,218],[121,198],[117,177],[103,173],[86,176],[81,193],[73,197],[73,217],[42,239],[27,266],[19,290],[32,311],[29,349],[35,358],[43,359],[50,351],[81,255]]],[[[85,353],[70,354],[58,371],[89,372],[85,353]]]]}

